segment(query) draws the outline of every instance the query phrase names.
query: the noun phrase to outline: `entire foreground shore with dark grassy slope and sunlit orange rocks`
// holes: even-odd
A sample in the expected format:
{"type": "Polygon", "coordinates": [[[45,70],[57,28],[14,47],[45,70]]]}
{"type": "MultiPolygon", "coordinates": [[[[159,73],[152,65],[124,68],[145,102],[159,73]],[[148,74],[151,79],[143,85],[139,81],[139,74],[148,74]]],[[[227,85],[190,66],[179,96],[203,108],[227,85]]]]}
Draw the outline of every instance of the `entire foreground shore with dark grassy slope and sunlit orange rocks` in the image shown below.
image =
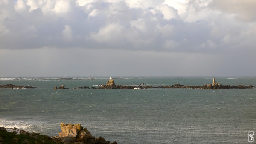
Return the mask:
{"type": "Polygon", "coordinates": [[[110,143],[102,137],[95,138],[91,133],[81,126],[81,124],[61,123],[59,136],[49,137],[39,133],[29,133],[25,130],[6,129],[0,127],[0,143],[3,144],[117,144],[116,141],[110,143]],[[11,132],[9,132],[12,130],[11,132]]]}

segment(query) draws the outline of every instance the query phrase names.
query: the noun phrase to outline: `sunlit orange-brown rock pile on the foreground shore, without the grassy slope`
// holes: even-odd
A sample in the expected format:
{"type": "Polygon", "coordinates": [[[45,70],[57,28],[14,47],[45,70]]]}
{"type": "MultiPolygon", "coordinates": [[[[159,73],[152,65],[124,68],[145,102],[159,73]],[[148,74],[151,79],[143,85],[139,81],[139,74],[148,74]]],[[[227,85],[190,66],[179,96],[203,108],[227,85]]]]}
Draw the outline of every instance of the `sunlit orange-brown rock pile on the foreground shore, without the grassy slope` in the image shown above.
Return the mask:
{"type": "MultiPolygon", "coordinates": [[[[65,124],[61,123],[61,131],[59,136],[53,137],[56,143],[64,144],[110,144],[109,141],[106,141],[104,138],[99,137],[95,138],[87,130],[83,128],[81,124],[65,124]]],[[[112,144],[117,144],[114,141],[112,144]]]]}

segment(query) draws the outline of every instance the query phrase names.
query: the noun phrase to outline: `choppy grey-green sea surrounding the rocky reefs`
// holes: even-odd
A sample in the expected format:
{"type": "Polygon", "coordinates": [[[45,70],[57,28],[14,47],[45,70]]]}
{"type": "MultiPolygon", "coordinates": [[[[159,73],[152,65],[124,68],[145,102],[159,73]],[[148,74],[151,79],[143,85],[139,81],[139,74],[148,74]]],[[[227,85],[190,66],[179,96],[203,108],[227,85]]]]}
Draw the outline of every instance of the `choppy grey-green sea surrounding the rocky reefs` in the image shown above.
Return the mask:
{"type": "MultiPolygon", "coordinates": [[[[253,85],[256,77],[114,77],[116,85],[253,85]]],[[[109,77],[1,77],[0,127],[57,136],[60,123],[81,124],[118,144],[248,143],[256,132],[252,89],[73,89],[109,77]],[[69,80],[67,80],[69,79],[69,80]],[[69,89],[53,90],[65,85],[69,89]]]]}

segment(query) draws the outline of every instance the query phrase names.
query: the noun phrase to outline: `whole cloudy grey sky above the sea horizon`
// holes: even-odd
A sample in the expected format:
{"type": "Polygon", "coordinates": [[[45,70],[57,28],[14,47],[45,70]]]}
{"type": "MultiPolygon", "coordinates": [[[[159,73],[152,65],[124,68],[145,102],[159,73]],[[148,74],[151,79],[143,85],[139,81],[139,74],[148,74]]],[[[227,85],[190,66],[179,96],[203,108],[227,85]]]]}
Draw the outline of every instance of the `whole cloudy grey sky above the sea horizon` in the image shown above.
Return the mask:
{"type": "Polygon", "coordinates": [[[0,76],[256,76],[256,0],[0,0],[0,76]]]}

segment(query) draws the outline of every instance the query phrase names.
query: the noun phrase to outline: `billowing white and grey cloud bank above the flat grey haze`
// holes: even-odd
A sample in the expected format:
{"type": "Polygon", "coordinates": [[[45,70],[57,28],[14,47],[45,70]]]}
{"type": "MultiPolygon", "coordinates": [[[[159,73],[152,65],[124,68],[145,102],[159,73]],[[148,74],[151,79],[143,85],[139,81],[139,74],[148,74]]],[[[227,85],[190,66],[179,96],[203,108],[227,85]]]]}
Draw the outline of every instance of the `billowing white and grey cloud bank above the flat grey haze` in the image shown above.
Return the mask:
{"type": "Polygon", "coordinates": [[[1,0],[1,49],[253,51],[254,1],[1,0]],[[227,9],[224,9],[227,8],[227,9]],[[249,13],[250,11],[250,13],[249,13]],[[243,21],[241,21],[243,20],[243,21]]]}

